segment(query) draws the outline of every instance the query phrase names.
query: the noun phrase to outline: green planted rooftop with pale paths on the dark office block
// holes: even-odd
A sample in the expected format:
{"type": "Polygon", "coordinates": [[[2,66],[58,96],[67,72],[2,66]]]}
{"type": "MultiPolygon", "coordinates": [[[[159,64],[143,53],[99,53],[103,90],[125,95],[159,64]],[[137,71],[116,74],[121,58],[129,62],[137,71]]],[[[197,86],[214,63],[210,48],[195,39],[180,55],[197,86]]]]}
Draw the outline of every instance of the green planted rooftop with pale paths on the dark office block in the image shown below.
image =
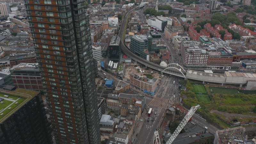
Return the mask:
{"type": "Polygon", "coordinates": [[[15,113],[29,100],[34,98],[39,92],[26,89],[16,89],[14,91],[7,91],[0,89],[0,124],[4,122],[9,116],[15,113]]]}

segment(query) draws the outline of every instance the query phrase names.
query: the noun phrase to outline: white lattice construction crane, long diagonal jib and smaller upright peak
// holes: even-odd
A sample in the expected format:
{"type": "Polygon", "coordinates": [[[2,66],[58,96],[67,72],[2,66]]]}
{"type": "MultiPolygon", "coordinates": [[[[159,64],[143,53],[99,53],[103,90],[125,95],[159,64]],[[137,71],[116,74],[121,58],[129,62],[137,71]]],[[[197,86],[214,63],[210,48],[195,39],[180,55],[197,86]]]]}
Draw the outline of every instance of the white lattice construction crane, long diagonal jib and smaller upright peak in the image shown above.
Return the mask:
{"type": "MultiPolygon", "coordinates": [[[[180,133],[180,131],[183,129],[183,127],[188,123],[188,120],[194,115],[194,113],[196,112],[196,110],[198,108],[201,108],[201,107],[199,105],[197,105],[197,106],[193,106],[189,109],[187,115],[183,118],[183,120],[180,122],[179,126],[172,133],[172,136],[165,144],[171,144],[173,142],[173,140],[177,137],[177,135],[180,133]]],[[[158,131],[155,132],[153,144],[160,144],[158,131]]]]}

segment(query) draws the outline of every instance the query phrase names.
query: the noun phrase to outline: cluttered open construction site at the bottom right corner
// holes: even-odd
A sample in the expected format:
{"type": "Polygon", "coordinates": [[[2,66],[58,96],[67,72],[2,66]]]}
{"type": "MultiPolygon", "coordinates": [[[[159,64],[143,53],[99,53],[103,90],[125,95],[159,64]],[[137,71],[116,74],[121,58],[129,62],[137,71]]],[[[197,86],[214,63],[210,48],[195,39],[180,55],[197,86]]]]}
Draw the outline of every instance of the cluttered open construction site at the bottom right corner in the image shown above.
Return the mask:
{"type": "Polygon", "coordinates": [[[214,144],[245,144],[242,126],[216,131],[214,144]]]}

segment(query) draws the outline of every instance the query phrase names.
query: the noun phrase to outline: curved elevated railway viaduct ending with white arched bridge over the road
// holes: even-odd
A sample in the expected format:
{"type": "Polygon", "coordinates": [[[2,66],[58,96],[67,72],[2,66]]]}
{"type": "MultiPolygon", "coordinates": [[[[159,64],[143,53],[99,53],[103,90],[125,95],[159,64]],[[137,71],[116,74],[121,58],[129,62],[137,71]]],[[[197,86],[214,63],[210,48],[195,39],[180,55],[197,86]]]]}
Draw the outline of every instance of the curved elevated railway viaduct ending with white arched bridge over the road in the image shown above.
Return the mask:
{"type": "MultiPolygon", "coordinates": [[[[163,67],[163,66],[155,64],[153,62],[150,62],[148,60],[145,60],[145,59],[137,56],[136,54],[134,54],[132,51],[130,51],[130,49],[124,44],[123,33],[126,32],[125,28],[126,28],[126,24],[128,23],[127,21],[128,21],[129,15],[130,15],[130,13],[132,11],[134,11],[138,7],[139,6],[136,6],[136,7],[132,8],[132,9],[130,9],[129,11],[127,11],[124,14],[123,22],[122,22],[122,24],[120,26],[120,30],[119,30],[119,34],[118,34],[118,36],[121,38],[121,51],[124,52],[124,54],[126,54],[127,56],[129,56],[132,60],[134,60],[136,62],[139,62],[139,63],[145,65],[148,68],[152,68],[152,69],[158,70],[161,73],[167,73],[167,74],[170,74],[170,75],[180,76],[180,77],[186,78],[186,76],[185,76],[186,71],[180,65],[179,65],[179,67],[182,68],[182,70],[185,71],[185,74],[180,69],[178,69],[176,67],[163,67]]],[[[169,65],[173,65],[173,64],[169,64],[169,65]]],[[[177,65],[177,64],[175,64],[175,65],[177,65]]]]}

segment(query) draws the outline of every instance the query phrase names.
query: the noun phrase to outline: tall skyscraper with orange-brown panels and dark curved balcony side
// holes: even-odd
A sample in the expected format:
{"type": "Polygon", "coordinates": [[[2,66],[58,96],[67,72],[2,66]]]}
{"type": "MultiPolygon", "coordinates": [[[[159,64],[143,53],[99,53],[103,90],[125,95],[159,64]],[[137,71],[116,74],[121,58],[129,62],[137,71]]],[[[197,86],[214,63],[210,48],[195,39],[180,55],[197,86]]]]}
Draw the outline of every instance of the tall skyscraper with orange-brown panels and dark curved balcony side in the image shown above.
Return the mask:
{"type": "Polygon", "coordinates": [[[57,144],[99,144],[85,0],[25,0],[57,144]]]}

